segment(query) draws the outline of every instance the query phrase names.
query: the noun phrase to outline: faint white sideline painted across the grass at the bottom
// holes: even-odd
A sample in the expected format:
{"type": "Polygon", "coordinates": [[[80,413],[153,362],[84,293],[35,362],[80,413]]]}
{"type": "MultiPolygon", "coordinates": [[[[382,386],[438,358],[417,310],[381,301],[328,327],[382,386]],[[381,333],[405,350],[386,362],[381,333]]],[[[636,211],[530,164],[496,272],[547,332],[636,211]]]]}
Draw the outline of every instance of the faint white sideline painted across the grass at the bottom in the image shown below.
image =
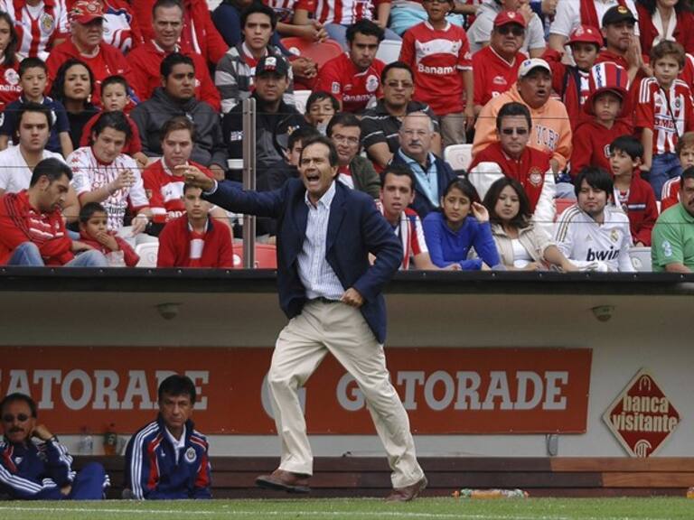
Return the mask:
{"type": "MultiPolygon", "coordinates": [[[[464,513],[408,513],[407,511],[364,511],[356,513],[354,511],[237,511],[227,509],[220,511],[181,511],[176,509],[101,509],[97,507],[91,508],[75,508],[75,507],[23,507],[23,506],[0,506],[0,511],[15,511],[31,513],[33,511],[51,511],[61,513],[108,513],[108,514],[123,514],[123,515],[175,515],[181,514],[187,516],[208,516],[208,515],[304,515],[304,516],[378,516],[378,517],[397,517],[397,518],[456,518],[463,520],[572,520],[572,516],[555,516],[555,515],[465,515],[464,513]]],[[[582,516],[582,520],[630,520],[630,516],[582,516]]],[[[635,520],[635,518],[634,518],[635,520]]],[[[639,518],[638,520],[669,520],[668,518],[647,517],[639,518]]]]}

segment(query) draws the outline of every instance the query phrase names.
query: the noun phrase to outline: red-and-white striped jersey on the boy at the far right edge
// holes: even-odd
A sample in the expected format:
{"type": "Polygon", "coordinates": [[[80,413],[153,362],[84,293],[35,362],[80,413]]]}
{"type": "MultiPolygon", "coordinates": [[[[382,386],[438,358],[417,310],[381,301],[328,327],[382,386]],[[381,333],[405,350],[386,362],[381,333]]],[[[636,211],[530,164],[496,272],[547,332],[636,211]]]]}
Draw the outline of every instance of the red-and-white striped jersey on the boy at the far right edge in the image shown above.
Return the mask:
{"type": "Polygon", "coordinates": [[[666,92],[657,79],[642,79],[634,126],[653,131],[653,155],[675,153],[679,135],[694,129],[691,90],[686,83],[675,79],[666,92]]]}

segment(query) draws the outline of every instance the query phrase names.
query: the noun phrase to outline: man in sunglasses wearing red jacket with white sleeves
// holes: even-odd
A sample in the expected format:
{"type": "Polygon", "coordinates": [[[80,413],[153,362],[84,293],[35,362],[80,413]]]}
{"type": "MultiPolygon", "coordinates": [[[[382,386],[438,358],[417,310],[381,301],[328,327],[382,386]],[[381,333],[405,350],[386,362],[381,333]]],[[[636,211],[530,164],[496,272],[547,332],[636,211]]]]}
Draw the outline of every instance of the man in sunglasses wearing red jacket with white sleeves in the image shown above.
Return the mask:
{"type": "Polygon", "coordinates": [[[510,177],[521,183],[529,201],[529,212],[536,229],[549,238],[555,217],[557,190],[548,152],[528,146],[532,119],[521,103],[507,103],[496,116],[499,140],[475,154],[468,178],[484,197],[494,181],[510,177]]]}

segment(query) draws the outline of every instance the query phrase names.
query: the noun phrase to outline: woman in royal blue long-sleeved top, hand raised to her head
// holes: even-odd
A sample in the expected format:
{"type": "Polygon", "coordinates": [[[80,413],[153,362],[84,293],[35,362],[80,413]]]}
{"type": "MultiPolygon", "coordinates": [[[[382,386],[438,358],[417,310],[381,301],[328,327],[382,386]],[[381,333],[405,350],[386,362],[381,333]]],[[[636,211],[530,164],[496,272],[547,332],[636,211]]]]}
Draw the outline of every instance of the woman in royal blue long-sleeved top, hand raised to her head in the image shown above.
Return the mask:
{"type": "Polygon", "coordinates": [[[459,264],[474,271],[499,264],[489,213],[470,181],[450,181],[441,197],[441,210],[429,213],[423,225],[429,255],[439,267],[459,264]],[[471,249],[478,258],[468,258],[471,249]]]}

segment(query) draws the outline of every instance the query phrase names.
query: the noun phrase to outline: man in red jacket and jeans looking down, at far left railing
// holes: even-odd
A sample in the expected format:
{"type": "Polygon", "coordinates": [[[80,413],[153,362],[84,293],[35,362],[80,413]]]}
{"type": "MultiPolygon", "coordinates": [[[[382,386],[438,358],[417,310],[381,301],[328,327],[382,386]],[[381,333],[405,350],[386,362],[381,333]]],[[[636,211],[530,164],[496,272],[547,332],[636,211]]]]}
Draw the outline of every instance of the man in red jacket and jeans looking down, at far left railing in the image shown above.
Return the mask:
{"type": "Polygon", "coordinates": [[[70,179],[67,164],[44,159],[33,169],[28,190],[8,193],[0,200],[0,265],[108,265],[98,251],[70,240],[65,229],[61,209],[70,179]]]}

